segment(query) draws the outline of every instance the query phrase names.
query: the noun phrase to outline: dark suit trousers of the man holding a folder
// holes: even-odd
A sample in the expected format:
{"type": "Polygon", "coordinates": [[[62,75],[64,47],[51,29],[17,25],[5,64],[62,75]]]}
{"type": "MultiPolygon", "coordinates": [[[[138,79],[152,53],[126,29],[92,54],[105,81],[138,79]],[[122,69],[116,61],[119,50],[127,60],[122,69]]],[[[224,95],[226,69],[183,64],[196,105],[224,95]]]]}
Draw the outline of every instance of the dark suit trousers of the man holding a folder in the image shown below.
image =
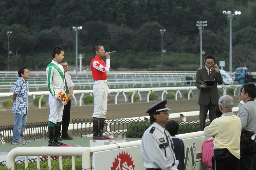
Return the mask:
{"type": "Polygon", "coordinates": [[[215,108],[217,104],[212,104],[211,100],[208,105],[199,105],[200,106],[200,111],[199,111],[199,126],[200,126],[200,131],[204,130],[205,128],[205,120],[207,118],[207,112],[209,110],[209,119],[210,123],[212,120],[215,119],[215,108]]]}

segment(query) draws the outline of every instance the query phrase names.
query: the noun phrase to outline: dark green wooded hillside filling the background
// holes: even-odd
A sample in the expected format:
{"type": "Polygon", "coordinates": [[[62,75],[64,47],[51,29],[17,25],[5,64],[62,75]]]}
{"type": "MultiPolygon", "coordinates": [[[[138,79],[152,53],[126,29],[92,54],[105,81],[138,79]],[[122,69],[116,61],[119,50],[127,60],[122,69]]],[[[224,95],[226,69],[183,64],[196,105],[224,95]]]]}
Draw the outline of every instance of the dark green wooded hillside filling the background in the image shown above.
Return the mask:
{"type": "MultiPolygon", "coordinates": [[[[200,66],[200,33],[197,20],[207,20],[203,51],[213,54],[215,63],[229,68],[229,19],[223,10],[241,11],[232,21],[233,70],[246,66],[256,70],[256,0],[1,0],[0,69],[15,67],[45,70],[51,50],[61,46],[69,65],[75,65],[74,26],[78,31],[78,52],[83,65],[94,57],[92,46],[101,43],[106,51],[116,50],[111,68],[151,70],[187,69],[200,66]],[[164,63],[161,66],[161,34],[164,63]],[[10,60],[6,32],[12,31],[10,60]],[[193,56],[193,59],[191,59],[193,56]]],[[[205,55],[204,55],[205,56],[205,55]]],[[[203,56],[203,58],[204,58],[203,56]]]]}

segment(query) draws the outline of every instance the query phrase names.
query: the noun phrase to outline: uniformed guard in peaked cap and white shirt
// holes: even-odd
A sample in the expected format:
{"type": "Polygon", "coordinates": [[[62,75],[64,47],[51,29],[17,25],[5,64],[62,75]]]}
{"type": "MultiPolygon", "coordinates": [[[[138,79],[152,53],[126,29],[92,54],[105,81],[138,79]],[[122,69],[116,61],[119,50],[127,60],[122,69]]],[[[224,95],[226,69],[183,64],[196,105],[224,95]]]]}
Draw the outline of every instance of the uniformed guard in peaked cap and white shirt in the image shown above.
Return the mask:
{"type": "Polygon", "coordinates": [[[148,108],[151,126],[145,131],[141,141],[142,160],[146,170],[177,170],[172,138],[163,125],[169,120],[167,100],[148,108]]]}

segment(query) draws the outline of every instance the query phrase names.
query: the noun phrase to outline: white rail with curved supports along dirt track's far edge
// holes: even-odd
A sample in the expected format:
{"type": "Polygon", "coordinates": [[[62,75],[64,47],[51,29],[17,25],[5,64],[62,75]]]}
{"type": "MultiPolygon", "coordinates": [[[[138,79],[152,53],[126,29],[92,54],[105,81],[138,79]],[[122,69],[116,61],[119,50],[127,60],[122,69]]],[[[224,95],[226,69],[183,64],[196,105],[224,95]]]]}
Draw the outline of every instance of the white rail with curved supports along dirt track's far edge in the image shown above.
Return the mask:
{"type": "MultiPolygon", "coordinates": [[[[238,87],[240,87],[241,85],[219,85],[218,88],[222,88],[223,89],[223,95],[227,94],[226,90],[227,88],[234,88],[234,96],[236,96],[237,94],[237,89],[238,87]]],[[[175,100],[178,99],[178,96],[180,96],[180,98],[182,98],[181,92],[180,90],[189,90],[188,93],[188,100],[190,99],[190,93],[192,92],[192,90],[198,90],[195,86],[182,86],[182,87],[151,87],[151,88],[116,88],[116,89],[109,89],[110,93],[115,93],[115,104],[117,104],[117,99],[118,99],[118,95],[120,93],[123,94],[124,98],[125,98],[125,102],[127,102],[127,96],[125,95],[125,92],[133,92],[132,96],[131,96],[131,103],[133,103],[133,96],[135,95],[135,93],[137,92],[139,95],[139,101],[142,101],[142,96],[140,95],[140,92],[145,92],[147,91],[147,102],[149,102],[149,95],[150,92],[153,91],[162,91],[162,95],[161,95],[161,100],[164,99],[164,95],[167,94],[167,91],[176,91],[175,94],[175,100]]],[[[81,94],[81,96],[79,97],[79,106],[82,106],[82,100],[83,100],[83,96],[84,94],[93,94],[93,90],[74,90],[72,97],[75,101],[75,105],[77,105],[77,100],[75,97],[75,94],[81,94]]],[[[30,91],[29,92],[29,96],[33,96],[33,98],[35,99],[35,96],[41,96],[38,102],[38,107],[41,108],[41,99],[44,97],[44,95],[49,95],[49,91],[30,91]]],[[[0,97],[7,97],[7,96],[12,96],[12,92],[5,92],[5,93],[0,93],[0,97]]]]}

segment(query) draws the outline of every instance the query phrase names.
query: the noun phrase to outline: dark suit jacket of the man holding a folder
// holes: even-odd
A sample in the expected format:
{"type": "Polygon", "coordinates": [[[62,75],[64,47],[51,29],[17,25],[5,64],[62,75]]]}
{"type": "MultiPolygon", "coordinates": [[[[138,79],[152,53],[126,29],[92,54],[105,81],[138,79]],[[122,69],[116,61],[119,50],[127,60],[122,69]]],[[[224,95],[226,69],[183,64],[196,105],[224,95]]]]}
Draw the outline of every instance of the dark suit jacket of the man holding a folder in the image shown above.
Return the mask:
{"type": "Polygon", "coordinates": [[[217,83],[222,84],[223,79],[221,77],[221,72],[216,72],[214,68],[211,69],[211,77],[206,70],[206,67],[203,67],[196,71],[196,87],[200,90],[199,98],[197,104],[208,105],[210,99],[212,104],[218,104],[219,92],[217,88],[217,83]],[[199,81],[204,82],[204,80],[217,80],[214,86],[207,86],[206,88],[201,88],[199,81]]]}

